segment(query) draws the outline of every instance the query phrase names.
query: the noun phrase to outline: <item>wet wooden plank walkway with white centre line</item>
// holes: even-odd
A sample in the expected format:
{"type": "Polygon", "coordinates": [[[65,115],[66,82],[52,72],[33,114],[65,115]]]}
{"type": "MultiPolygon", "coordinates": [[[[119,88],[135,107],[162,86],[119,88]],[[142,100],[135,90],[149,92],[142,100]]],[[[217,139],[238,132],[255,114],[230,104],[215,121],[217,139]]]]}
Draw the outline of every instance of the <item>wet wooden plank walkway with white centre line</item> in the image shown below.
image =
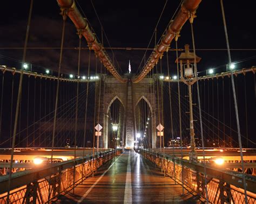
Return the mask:
{"type": "Polygon", "coordinates": [[[126,150],[94,177],[54,203],[200,203],[198,196],[165,177],[150,161],[126,150]]]}

